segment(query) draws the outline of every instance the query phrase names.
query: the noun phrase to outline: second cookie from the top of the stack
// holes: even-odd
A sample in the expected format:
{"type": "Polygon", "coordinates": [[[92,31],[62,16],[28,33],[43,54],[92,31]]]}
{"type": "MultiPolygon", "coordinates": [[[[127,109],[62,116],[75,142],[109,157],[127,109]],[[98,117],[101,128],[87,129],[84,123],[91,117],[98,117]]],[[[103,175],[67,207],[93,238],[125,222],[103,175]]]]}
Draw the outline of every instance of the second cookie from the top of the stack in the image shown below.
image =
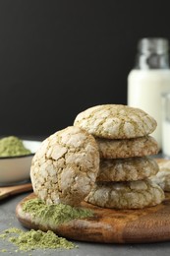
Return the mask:
{"type": "Polygon", "coordinates": [[[96,138],[101,159],[122,159],[156,155],[157,142],[151,136],[134,139],[109,140],[96,138]]]}

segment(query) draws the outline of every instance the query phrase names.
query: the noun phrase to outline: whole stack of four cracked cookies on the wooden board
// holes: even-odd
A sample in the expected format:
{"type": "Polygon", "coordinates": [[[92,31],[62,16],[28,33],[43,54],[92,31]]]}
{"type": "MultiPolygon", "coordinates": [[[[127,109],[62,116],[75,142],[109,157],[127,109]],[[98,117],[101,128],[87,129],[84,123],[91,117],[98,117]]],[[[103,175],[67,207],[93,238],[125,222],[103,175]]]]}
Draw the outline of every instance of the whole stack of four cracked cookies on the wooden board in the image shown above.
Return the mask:
{"type": "Polygon", "coordinates": [[[149,179],[159,168],[150,136],[156,121],[142,109],[120,104],[96,105],[79,113],[74,126],[93,135],[100,165],[87,203],[113,209],[142,209],[160,204],[164,192],[149,179]]]}

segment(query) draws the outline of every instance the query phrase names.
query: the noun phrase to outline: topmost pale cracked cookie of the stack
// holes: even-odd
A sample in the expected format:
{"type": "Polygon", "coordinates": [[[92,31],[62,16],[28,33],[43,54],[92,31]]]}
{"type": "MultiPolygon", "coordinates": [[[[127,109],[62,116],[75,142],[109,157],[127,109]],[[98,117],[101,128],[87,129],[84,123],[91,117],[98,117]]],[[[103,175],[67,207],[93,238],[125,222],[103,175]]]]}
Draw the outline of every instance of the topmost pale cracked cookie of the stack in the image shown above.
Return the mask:
{"type": "Polygon", "coordinates": [[[74,125],[84,128],[95,137],[129,139],[152,133],[157,123],[140,108],[103,104],[89,107],[79,113],[74,125]]]}

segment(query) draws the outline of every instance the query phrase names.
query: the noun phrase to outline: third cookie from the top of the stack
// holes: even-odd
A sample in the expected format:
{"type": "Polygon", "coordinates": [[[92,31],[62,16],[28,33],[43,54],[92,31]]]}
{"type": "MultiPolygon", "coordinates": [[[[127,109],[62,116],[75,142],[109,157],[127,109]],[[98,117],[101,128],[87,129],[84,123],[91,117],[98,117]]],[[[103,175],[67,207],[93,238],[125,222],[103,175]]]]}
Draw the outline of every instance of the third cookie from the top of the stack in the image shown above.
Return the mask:
{"type": "Polygon", "coordinates": [[[158,164],[152,158],[100,160],[97,181],[133,181],[155,175],[158,164]]]}

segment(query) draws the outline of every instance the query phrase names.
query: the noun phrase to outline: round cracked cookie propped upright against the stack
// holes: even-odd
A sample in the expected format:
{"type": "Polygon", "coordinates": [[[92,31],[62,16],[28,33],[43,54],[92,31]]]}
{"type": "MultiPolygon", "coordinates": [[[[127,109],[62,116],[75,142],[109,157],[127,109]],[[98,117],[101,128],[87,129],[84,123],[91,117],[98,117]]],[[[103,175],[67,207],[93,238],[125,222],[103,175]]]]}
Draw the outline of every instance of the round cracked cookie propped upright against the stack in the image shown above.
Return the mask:
{"type": "Polygon", "coordinates": [[[42,142],[32,159],[34,193],[47,204],[78,205],[89,193],[99,169],[94,138],[69,126],[42,142]]]}

